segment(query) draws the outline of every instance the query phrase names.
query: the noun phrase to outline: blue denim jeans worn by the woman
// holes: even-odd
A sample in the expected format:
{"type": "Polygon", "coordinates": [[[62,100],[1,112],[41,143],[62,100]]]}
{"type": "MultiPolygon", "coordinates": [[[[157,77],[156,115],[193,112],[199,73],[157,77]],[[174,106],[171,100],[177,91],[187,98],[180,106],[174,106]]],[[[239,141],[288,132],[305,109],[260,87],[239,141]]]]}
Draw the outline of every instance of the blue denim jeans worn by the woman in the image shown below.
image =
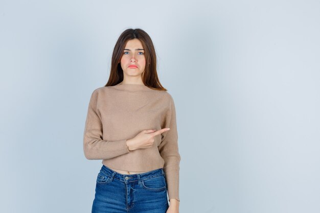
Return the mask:
{"type": "Polygon", "coordinates": [[[165,172],[124,175],[102,165],[92,213],[166,213],[169,203],[165,172]]]}

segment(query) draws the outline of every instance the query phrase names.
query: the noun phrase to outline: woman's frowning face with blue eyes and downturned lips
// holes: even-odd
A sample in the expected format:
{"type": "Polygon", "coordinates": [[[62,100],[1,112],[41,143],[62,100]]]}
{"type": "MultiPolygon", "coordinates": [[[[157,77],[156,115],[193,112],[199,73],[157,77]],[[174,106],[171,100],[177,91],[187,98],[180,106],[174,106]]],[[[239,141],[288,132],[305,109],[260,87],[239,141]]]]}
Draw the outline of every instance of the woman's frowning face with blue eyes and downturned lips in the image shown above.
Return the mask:
{"type": "Polygon", "coordinates": [[[120,59],[123,75],[139,76],[145,70],[145,51],[139,39],[128,40],[120,59]]]}

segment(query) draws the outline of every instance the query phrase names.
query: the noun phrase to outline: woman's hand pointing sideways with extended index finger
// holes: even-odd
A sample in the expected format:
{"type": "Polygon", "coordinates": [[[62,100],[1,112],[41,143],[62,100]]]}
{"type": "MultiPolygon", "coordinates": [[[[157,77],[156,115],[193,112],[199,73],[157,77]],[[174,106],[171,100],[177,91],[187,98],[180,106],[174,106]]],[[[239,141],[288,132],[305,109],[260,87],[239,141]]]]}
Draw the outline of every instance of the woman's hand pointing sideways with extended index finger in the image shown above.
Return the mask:
{"type": "Polygon", "coordinates": [[[164,128],[158,131],[156,131],[156,129],[143,130],[135,137],[127,140],[127,146],[130,151],[150,148],[153,146],[154,136],[162,134],[168,130],[170,130],[170,128],[164,128]]]}

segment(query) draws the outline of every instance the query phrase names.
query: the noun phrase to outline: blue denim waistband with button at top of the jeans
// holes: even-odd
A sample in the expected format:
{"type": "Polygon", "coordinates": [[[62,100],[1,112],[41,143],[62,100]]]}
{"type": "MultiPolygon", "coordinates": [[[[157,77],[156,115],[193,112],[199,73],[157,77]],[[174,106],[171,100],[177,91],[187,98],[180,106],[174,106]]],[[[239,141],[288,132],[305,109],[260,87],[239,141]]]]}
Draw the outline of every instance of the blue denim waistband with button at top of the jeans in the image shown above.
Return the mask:
{"type": "Polygon", "coordinates": [[[131,182],[136,180],[140,182],[140,180],[149,179],[159,175],[166,176],[163,168],[152,170],[149,172],[138,173],[138,174],[121,174],[110,169],[109,167],[106,167],[106,165],[104,164],[102,165],[100,172],[103,172],[105,175],[109,176],[111,179],[116,178],[124,182],[131,182]]]}

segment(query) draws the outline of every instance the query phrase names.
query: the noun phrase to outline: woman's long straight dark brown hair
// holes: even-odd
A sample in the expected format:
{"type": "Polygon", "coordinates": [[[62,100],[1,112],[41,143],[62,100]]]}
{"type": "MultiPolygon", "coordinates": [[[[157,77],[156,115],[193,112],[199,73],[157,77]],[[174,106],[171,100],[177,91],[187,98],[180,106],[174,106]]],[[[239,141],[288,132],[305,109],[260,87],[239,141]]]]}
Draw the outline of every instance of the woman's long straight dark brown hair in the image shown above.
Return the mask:
{"type": "Polygon", "coordinates": [[[113,49],[110,76],[105,86],[114,86],[123,81],[123,70],[121,68],[120,60],[127,41],[134,38],[139,39],[145,49],[146,67],[142,73],[143,83],[151,89],[167,91],[158,79],[156,72],[156,55],[152,40],[148,33],[139,28],[127,29],[119,36],[115,48],[113,49]]]}

